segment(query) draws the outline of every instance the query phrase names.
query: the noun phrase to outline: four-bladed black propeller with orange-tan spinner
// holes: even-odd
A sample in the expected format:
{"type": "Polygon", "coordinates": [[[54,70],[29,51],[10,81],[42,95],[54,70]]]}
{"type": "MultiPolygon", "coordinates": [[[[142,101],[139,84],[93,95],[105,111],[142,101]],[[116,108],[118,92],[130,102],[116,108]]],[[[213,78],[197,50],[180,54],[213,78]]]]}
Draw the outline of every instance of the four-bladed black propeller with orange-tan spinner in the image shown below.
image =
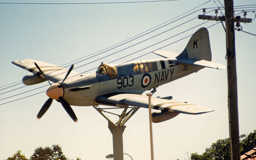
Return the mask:
{"type": "MultiPolygon", "coordinates": [[[[39,69],[39,72],[44,76],[44,78],[49,82],[49,80],[47,79],[46,75],[44,75],[44,73],[42,72],[42,70],[40,69],[40,67],[36,64],[35,62],[35,66],[37,69],[39,69]]],[[[46,103],[43,104],[41,110],[39,111],[39,113],[37,114],[37,118],[40,119],[44,113],[46,113],[46,111],[49,109],[50,105],[52,105],[53,99],[56,99],[57,101],[59,101],[61,103],[61,105],[63,106],[63,108],[66,110],[66,112],[68,113],[68,115],[76,122],[78,121],[78,118],[76,118],[74,111],[72,110],[71,106],[68,104],[68,102],[63,98],[64,95],[64,89],[63,89],[63,82],[67,79],[69,73],[71,73],[72,69],[74,68],[74,65],[72,65],[65,78],[62,80],[61,84],[50,84],[50,87],[47,89],[46,94],[48,95],[49,99],[46,101],[46,103]]]]}

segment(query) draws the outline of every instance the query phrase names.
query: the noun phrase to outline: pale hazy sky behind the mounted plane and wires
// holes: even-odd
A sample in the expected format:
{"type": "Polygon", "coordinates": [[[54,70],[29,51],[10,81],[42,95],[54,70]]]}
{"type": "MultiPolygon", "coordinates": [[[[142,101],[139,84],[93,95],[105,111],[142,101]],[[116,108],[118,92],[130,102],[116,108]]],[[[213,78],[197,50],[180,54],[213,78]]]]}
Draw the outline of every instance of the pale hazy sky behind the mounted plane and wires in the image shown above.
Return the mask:
{"type": "MultiPolygon", "coordinates": [[[[7,1],[0,0],[0,3],[3,2],[7,1]]],[[[212,61],[226,65],[226,36],[222,24],[196,18],[203,14],[203,8],[206,8],[207,15],[215,15],[214,9],[221,7],[221,3],[181,0],[121,4],[0,4],[0,159],[7,159],[17,150],[29,158],[36,148],[53,144],[59,144],[66,157],[73,159],[105,159],[106,155],[113,153],[107,120],[91,106],[72,106],[78,117],[78,122],[74,123],[61,104],[53,101],[47,113],[40,120],[37,119],[37,113],[48,99],[44,91],[49,84],[43,82],[25,86],[21,80],[30,73],[11,61],[35,59],[67,68],[75,63],[74,71],[93,73],[93,68],[101,62],[160,59],[150,52],[163,46],[166,47],[162,50],[179,54],[191,34],[201,27],[207,27],[212,61]],[[133,40],[136,38],[134,36],[138,38],[133,40]],[[110,50],[109,47],[115,44],[119,46],[110,50]],[[106,48],[108,51],[103,52],[106,48]],[[92,56],[97,52],[101,54],[92,56]],[[131,53],[134,54],[117,60],[131,53]],[[92,58],[86,59],[89,55],[92,58]],[[76,60],[84,61],[77,63],[76,60]]],[[[255,2],[234,1],[235,6],[250,4],[255,2]]],[[[247,12],[247,18],[254,18],[252,11],[256,10],[255,5],[254,8],[248,7],[236,7],[235,14],[243,17],[241,10],[244,9],[251,11],[247,12]]],[[[221,12],[217,15],[221,15],[221,12]]],[[[256,34],[255,21],[241,23],[241,26],[244,31],[256,34]]],[[[240,135],[256,129],[255,40],[256,37],[251,34],[235,31],[240,135]]],[[[188,159],[187,155],[194,152],[202,154],[216,140],[228,138],[227,93],[226,69],[204,68],[158,87],[153,95],[155,97],[171,95],[174,100],[187,101],[215,111],[196,116],[179,114],[168,121],[153,124],[155,159],[188,159]]],[[[140,108],[125,125],[124,153],[129,153],[133,159],[150,159],[148,110],[140,108]]],[[[130,157],[125,155],[124,159],[130,157]]]]}

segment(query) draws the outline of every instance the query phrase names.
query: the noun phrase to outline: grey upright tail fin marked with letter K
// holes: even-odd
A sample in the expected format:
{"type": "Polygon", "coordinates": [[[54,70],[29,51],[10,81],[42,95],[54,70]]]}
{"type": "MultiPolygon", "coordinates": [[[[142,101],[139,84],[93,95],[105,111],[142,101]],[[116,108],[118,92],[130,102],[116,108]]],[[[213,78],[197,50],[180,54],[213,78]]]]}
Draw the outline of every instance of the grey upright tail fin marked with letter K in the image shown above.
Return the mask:
{"type": "Polygon", "coordinates": [[[178,59],[197,59],[212,61],[210,51],[209,33],[206,28],[200,28],[191,36],[183,52],[178,55],[178,59]]]}

